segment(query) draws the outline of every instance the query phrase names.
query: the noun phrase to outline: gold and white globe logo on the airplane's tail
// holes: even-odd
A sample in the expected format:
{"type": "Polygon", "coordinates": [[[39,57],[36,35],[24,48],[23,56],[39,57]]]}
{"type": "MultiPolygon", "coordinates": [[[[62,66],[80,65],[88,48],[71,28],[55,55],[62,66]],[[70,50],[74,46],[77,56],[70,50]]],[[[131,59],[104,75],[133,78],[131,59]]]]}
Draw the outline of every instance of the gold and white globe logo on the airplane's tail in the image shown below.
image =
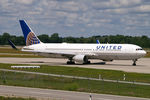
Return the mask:
{"type": "Polygon", "coordinates": [[[34,35],[33,32],[29,32],[27,39],[26,39],[26,45],[32,45],[32,44],[39,44],[39,39],[34,35]]]}

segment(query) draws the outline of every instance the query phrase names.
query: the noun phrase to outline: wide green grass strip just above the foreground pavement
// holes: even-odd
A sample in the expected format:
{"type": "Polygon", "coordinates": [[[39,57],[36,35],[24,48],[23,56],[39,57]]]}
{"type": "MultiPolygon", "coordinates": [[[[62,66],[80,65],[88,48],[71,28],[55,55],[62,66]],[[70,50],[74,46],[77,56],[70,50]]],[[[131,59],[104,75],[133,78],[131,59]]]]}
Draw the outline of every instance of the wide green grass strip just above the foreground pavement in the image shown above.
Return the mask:
{"type": "Polygon", "coordinates": [[[150,98],[150,86],[0,71],[0,84],[150,98]]]}

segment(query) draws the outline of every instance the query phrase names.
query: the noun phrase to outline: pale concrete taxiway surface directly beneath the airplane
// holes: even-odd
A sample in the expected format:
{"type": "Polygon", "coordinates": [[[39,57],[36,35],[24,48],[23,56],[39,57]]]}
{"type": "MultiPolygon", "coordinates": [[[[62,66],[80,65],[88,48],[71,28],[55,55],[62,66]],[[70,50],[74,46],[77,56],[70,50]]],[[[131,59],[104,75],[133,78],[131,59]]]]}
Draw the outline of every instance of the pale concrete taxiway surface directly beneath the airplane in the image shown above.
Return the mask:
{"type": "Polygon", "coordinates": [[[137,61],[137,66],[132,66],[131,60],[114,60],[113,62],[106,62],[101,64],[100,60],[91,60],[91,64],[81,65],[67,65],[67,59],[57,58],[0,58],[0,63],[14,63],[14,64],[46,64],[46,65],[60,65],[71,67],[95,68],[95,69],[111,69],[122,70],[126,72],[150,73],[150,58],[141,58],[137,61]]]}

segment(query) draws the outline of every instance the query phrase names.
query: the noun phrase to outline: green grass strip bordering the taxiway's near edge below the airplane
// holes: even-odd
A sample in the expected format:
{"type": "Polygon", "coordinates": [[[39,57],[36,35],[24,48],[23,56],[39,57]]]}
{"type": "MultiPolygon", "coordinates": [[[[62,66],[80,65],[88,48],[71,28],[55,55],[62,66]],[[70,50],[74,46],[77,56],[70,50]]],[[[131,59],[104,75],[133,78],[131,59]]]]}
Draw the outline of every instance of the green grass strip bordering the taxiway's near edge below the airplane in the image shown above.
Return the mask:
{"type": "MultiPolygon", "coordinates": [[[[18,64],[0,64],[0,68],[13,69],[10,66],[18,64]]],[[[21,64],[19,64],[21,65],[21,64]]],[[[30,72],[51,73],[60,75],[82,76],[99,78],[101,75],[104,79],[123,80],[123,75],[126,74],[126,81],[146,82],[150,83],[150,74],[131,73],[116,70],[79,68],[79,67],[65,67],[65,66],[48,66],[40,65],[40,68],[15,68],[14,70],[24,70],[30,72]]]]}

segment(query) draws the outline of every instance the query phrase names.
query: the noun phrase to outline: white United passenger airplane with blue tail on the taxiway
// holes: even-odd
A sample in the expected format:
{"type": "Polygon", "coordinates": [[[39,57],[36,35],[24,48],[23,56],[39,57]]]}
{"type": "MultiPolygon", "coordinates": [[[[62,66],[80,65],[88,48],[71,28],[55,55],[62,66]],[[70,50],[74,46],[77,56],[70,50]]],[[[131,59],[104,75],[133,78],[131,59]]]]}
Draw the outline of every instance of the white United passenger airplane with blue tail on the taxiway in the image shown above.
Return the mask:
{"type": "Polygon", "coordinates": [[[22,51],[46,57],[68,58],[67,64],[89,64],[90,59],[99,59],[132,60],[132,65],[136,66],[137,60],[146,54],[146,51],[134,44],[43,43],[25,20],[19,22],[26,42],[22,51]]]}

